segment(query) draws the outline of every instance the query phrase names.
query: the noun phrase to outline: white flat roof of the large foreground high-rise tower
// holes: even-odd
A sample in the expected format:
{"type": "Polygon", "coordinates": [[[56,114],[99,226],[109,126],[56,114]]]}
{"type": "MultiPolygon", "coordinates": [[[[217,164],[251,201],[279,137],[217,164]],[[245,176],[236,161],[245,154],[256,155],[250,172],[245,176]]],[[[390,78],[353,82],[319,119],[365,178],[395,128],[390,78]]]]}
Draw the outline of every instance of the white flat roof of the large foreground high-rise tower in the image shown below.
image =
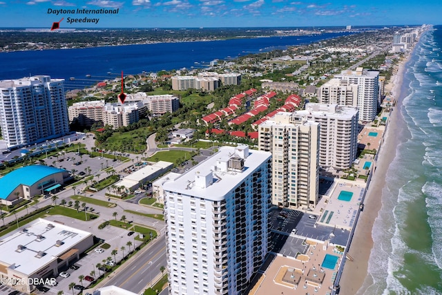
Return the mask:
{"type": "Polygon", "coordinates": [[[251,175],[263,162],[269,160],[271,153],[266,151],[249,150],[248,146],[222,146],[207,160],[200,162],[180,178],[166,181],[165,191],[174,191],[184,195],[195,196],[208,200],[224,200],[231,189],[236,187],[244,178],[251,175]],[[227,164],[232,156],[242,158],[240,154],[246,151],[244,169],[242,171],[222,171],[220,168],[227,164]]]}

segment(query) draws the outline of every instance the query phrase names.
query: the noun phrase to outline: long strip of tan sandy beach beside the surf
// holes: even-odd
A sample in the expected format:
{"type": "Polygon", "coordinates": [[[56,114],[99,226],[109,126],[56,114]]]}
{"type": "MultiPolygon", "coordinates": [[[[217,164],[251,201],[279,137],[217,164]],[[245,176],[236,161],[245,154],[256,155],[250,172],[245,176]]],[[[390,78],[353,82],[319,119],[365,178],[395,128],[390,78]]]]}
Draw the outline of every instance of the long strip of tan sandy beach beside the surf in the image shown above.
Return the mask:
{"type": "MultiPolygon", "coordinates": [[[[385,86],[385,93],[392,92],[392,99],[398,102],[401,95],[401,86],[403,82],[403,75],[405,64],[410,55],[403,59],[398,65],[397,73],[390,79],[390,83],[385,86]]],[[[365,209],[356,225],[356,231],[352,244],[349,248],[349,255],[354,258],[354,261],[347,260],[345,263],[343,276],[340,279],[340,294],[364,294],[365,290],[361,289],[364,285],[371,285],[372,278],[367,276],[368,260],[370,252],[373,247],[372,228],[374,220],[378,216],[378,211],[381,209],[382,190],[385,187],[385,175],[388,166],[396,155],[397,137],[395,136],[400,131],[401,113],[399,111],[398,102],[394,107],[394,111],[390,114],[389,122],[387,124],[387,131],[384,137],[384,142],[381,146],[381,151],[376,162],[376,172],[369,184],[367,196],[365,197],[365,209]],[[359,290],[359,292],[358,292],[359,290]]]]}

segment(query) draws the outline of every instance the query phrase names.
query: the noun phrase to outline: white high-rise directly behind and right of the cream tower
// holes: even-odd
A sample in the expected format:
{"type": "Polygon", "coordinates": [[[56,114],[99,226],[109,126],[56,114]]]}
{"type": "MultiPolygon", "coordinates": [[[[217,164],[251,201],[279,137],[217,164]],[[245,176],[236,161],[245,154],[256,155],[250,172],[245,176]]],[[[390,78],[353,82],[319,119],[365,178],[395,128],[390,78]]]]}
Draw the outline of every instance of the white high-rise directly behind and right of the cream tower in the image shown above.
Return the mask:
{"type": "Polygon", "coordinates": [[[358,108],[310,103],[296,114],[320,123],[320,166],[338,170],[352,166],[358,151],[358,108]]]}

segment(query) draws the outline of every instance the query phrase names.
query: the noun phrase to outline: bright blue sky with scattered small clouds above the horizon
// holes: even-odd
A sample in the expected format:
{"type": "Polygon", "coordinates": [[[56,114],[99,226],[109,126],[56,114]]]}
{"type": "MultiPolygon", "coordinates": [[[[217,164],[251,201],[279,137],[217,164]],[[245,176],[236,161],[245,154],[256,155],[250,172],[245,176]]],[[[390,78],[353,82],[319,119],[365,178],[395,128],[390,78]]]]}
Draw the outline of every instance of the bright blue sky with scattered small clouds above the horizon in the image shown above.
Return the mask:
{"type": "Polygon", "coordinates": [[[0,0],[0,27],[189,28],[440,24],[442,1],[0,0]],[[48,9],[119,8],[118,15],[51,15],[48,9]],[[99,18],[97,24],[67,18],[99,18]]]}

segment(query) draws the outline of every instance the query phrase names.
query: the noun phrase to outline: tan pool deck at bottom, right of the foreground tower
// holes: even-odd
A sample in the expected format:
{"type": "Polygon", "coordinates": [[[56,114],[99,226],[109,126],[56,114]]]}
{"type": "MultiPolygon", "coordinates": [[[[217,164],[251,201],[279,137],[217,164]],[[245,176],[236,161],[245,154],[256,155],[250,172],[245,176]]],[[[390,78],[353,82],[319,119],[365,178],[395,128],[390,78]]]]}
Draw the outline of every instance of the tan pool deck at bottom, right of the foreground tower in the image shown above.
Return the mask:
{"type": "Polygon", "coordinates": [[[311,242],[302,258],[305,256],[308,256],[309,260],[276,256],[249,295],[331,294],[342,255],[336,254],[334,246],[328,245],[327,242],[311,242]],[[334,269],[320,267],[325,254],[339,257],[334,269]]]}

